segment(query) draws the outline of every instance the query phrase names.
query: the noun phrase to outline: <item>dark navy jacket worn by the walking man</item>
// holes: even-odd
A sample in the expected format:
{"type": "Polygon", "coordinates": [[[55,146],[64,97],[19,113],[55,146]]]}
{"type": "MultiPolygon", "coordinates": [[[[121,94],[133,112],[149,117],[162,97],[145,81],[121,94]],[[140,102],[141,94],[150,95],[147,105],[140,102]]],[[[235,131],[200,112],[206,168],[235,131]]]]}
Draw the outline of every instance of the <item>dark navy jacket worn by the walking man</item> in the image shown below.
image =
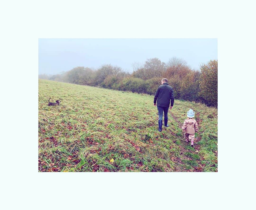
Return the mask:
{"type": "Polygon", "coordinates": [[[155,93],[154,97],[154,104],[157,100],[157,106],[168,107],[173,106],[174,104],[174,96],[173,96],[173,88],[165,82],[164,84],[160,85],[155,93]]]}

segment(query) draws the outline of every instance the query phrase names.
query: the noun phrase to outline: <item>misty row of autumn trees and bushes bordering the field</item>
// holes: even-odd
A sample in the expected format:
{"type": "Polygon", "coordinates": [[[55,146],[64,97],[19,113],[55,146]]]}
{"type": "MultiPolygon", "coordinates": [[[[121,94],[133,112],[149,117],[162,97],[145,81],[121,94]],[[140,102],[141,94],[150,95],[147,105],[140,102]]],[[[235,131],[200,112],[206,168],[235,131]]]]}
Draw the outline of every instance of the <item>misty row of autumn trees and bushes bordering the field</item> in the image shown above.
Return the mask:
{"type": "Polygon", "coordinates": [[[201,64],[200,70],[191,69],[185,60],[176,57],[167,63],[150,58],[144,63],[133,63],[132,67],[130,73],[111,64],[98,69],[79,66],[56,75],[41,74],[39,79],[152,95],[161,85],[161,80],[167,78],[175,99],[218,105],[218,60],[201,64]]]}

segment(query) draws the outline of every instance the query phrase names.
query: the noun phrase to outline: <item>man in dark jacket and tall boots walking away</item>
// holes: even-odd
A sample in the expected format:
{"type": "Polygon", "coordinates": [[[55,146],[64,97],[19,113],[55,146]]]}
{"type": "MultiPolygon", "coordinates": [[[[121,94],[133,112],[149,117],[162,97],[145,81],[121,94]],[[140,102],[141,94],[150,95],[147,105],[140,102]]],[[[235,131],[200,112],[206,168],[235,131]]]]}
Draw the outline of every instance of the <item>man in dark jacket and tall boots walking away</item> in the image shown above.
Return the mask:
{"type": "Polygon", "coordinates": [[[160,85],[155,93],[154,97],[154,106],[156,106],[157,100],[157,109],[158,109],[158,131],[162,131],[163,125],[163,112],[164,112],[164,126],[169,127],[168,122],[168,109],[173,108],[174,104],[174,96],[173,96],[173,88],[168,84],[168,80],[166,78],[162,79],[162,85],[160,85]],[[171,103],[171,105],[170,105],[171,103]]]}

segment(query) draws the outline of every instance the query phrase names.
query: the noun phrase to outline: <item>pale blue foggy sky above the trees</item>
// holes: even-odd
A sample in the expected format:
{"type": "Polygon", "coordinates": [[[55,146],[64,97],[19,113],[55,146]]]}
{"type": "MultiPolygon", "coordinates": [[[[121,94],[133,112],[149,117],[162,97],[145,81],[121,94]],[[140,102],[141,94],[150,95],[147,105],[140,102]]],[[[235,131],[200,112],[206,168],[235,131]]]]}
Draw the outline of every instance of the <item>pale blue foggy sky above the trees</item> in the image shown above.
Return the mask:
{"type": "Polygon", "coordinates": [[[39,74],[57,74],[77,66],[120,66],[132,72],[132,63],[148,58],[162,62],[183,58],[192,69],[217,58],[217,39],[39,39],[39,74]]]}

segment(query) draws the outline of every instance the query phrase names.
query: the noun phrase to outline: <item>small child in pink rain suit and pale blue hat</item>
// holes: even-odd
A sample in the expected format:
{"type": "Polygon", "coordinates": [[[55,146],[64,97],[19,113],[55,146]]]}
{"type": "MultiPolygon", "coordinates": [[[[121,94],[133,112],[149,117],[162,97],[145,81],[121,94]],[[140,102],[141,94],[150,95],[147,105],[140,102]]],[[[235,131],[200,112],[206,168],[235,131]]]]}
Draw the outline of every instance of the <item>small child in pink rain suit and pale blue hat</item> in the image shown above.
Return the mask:
{"type": "Polygon", "coordinates": [[[194,140],[195,140],[195,132],[198,131],[197,122],[194,119],[195,112],[193,112],[192,109],[189,109],[187,112],[187,119],[185,119],[182,130],[185,132],[185,138],[186,142],[191,141],[191,147],[194,146],[194,140]]]}

